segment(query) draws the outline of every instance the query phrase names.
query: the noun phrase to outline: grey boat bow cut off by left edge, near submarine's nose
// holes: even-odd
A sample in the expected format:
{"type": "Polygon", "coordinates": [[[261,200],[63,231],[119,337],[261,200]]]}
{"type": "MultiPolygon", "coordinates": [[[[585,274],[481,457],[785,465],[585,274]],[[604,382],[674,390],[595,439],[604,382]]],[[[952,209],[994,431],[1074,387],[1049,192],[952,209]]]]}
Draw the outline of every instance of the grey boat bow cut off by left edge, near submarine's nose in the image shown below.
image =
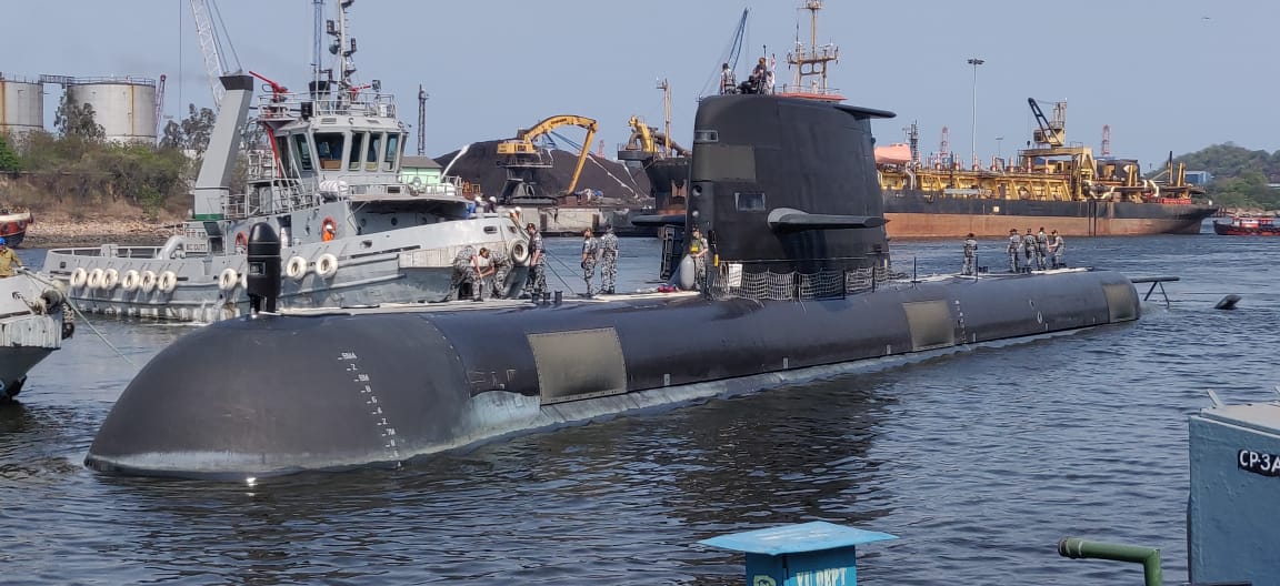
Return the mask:
{"type": "Polygon", "coordinates": [[[65,308],[50,279],[27,271],[0,278],[0,403],[20,393],[27,372],[72,337],[65,308]]]}

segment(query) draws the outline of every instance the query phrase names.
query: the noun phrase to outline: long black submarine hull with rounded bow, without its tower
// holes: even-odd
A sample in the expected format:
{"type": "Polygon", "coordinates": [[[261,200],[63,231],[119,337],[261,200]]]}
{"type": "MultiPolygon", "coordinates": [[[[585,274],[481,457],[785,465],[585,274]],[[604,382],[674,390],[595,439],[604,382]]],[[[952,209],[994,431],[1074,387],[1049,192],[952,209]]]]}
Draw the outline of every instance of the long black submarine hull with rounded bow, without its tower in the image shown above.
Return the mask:
{"type": "Polygon", "coordinates": [[[1089,270],[934,278],[805,303],[677,294],[260,315],[159,353],[86,464],[216,479],[396,464],[814,367],[1138,316],[1128,278],[1089,270]]]}

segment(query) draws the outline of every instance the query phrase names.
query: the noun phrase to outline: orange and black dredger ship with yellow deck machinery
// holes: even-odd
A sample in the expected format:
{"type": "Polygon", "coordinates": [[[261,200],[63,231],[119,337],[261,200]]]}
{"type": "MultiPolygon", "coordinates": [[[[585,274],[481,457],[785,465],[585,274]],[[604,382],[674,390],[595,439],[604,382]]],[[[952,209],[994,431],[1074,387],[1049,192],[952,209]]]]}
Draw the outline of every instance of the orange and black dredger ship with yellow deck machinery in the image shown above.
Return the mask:
{"type": "Polygon", "coordinates": [[[1002,237],[1041,226],[1076,237],[1199,234],[1217,212],[1172,156],[1156,178],[1143,178],[1137,160],[1069,146],[1066,102],[1055,102],[1048,119],[1034,99],[1027,101],[1038,128],[1012,160],[965,166],[943,154],[922,162],[913,127],[909,143],[877,147],[890,237],[1002,237]]]}

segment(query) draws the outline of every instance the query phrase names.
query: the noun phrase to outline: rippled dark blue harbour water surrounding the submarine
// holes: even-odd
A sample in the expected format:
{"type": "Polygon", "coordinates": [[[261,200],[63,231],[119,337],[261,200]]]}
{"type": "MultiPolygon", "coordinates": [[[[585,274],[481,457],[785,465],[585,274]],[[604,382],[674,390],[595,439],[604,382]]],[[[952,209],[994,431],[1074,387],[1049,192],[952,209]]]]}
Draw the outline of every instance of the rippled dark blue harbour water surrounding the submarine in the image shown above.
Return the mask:
{"type": "MultiPolygon", "coordinates": [[[[1166,580],[1185,581],[1187,417],[1211,388],[1229,402],[1274,397],[1280,238],[1068,244],[1074,265],[1180,276],[1172,307],[398,471],[255,487],[84,470],[134,365],[192,326],[93,320],[125,361],[81,324],[22,404],[0,408],[0,582],[737,585],[741,558],[694,542],[814,519],[901,537],[864,548],[869,585],[1140,580],[1133,564],[1059,558],[1064,536],[1162,548],[1166,580]],[[1240,308],[1212,310],[1228,293],[1240,308]]],[[[572,264],[575,246],[550,248],[572,264]]],[[[982,242],[980,264],[1001,266],[1001,246],[982,242]]],[[[922,275],[960,265],[959,242],[892,251],[922,275]]],[[[38,266],[42,252],[22,255],[38,266]]],[[[626,288],[652,287],[655,256],[654,241],[623,241],[626,288]]]]}

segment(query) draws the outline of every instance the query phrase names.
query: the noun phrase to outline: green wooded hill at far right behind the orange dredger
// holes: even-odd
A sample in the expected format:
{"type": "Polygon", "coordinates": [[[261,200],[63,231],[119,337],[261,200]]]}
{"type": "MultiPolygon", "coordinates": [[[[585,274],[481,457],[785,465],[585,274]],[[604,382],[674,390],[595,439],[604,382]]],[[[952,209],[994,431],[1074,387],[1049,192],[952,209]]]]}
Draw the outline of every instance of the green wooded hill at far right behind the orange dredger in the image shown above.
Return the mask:
{"type": "Polygon", "coordinates": [[[1174,159],[1188,170],[1213,174],[1208,197],[1228,209],[1245,211],[1280,210],[1280,151],[1251,151],[1234,143],[1213,145],[1174,159]]]}

